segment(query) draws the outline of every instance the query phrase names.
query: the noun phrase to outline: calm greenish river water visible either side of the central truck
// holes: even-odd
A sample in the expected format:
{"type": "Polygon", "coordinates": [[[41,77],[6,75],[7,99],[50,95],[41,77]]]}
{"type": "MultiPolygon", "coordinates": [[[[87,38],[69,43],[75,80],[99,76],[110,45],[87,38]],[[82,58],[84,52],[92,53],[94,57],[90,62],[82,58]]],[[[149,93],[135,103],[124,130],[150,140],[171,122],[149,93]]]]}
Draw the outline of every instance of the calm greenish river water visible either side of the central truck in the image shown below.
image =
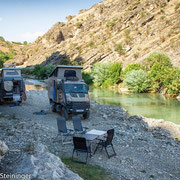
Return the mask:
{"type": "MultiPolygon", "coordinates": [[[[38,80],[25,80],[26,90],[46,90],[38,80]]],[[[107,89],[90,88],[90,99],[100,104],[120,105],[130,115],[164,119],[180,124],[180,102],[160,94],[119,94],[107,89]]]]}

